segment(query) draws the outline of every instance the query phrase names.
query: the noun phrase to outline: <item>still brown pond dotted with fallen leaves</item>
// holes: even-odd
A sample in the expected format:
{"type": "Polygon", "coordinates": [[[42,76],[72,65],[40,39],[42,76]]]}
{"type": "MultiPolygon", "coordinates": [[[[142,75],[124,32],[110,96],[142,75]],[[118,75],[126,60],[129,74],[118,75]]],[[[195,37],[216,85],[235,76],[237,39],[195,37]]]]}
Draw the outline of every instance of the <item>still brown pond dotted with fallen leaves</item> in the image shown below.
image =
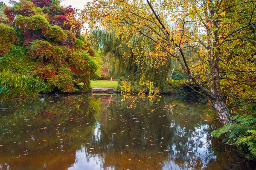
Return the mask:
{"type": "Polygon", "coordinates": [[[0,103],[0,170],[224,170],[243,159],[210,135],[221,123],[197,99],[127,105],[88,94],[0,103]]]}

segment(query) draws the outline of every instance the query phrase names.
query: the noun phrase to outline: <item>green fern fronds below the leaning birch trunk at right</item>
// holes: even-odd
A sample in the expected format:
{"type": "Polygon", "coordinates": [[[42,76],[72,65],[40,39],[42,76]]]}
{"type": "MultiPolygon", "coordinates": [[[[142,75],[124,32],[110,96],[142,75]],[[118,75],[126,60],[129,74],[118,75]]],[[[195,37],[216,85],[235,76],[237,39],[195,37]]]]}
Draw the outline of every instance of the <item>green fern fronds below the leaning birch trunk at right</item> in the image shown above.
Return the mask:
{"type": "Polygon", "coordinates": [[[256,118],[252,114],[234,116],[234,122],[214,130],[212,135],[219,138],[225,134],[224,142],[236,144],[247,152],[247,158],[256,160],[256,118]]]}

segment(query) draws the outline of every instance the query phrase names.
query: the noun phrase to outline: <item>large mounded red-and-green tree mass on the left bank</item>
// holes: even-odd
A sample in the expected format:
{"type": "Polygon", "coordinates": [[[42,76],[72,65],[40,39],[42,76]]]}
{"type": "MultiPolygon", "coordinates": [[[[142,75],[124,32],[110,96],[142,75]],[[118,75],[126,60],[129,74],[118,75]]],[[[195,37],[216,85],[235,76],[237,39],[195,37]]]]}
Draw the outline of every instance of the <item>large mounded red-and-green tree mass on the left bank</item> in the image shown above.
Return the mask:
{"type": "Polygon", "coordinates": [[[71,6],[58,0],[21,0],[0,17],[0,71],[44,80],[48,92],[89,91],[94,52],[80,35],[71,6]]]}

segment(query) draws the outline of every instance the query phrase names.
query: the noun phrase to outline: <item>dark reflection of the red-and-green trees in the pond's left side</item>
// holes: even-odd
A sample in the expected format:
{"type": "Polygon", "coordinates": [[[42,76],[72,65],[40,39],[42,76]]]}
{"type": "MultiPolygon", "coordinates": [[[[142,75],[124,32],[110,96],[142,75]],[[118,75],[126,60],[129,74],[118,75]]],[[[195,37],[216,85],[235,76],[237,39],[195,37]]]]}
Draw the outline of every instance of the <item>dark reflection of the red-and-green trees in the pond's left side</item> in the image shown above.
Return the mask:
{"type": "Polygon", "coordinates": [[[3,112],[0,164],[33,170],[67,169],[74,164],[76,150],[92,136],[95,125],[94,106],[88,96],[83,98],[21,100],[14,111],[3,112]]]}

